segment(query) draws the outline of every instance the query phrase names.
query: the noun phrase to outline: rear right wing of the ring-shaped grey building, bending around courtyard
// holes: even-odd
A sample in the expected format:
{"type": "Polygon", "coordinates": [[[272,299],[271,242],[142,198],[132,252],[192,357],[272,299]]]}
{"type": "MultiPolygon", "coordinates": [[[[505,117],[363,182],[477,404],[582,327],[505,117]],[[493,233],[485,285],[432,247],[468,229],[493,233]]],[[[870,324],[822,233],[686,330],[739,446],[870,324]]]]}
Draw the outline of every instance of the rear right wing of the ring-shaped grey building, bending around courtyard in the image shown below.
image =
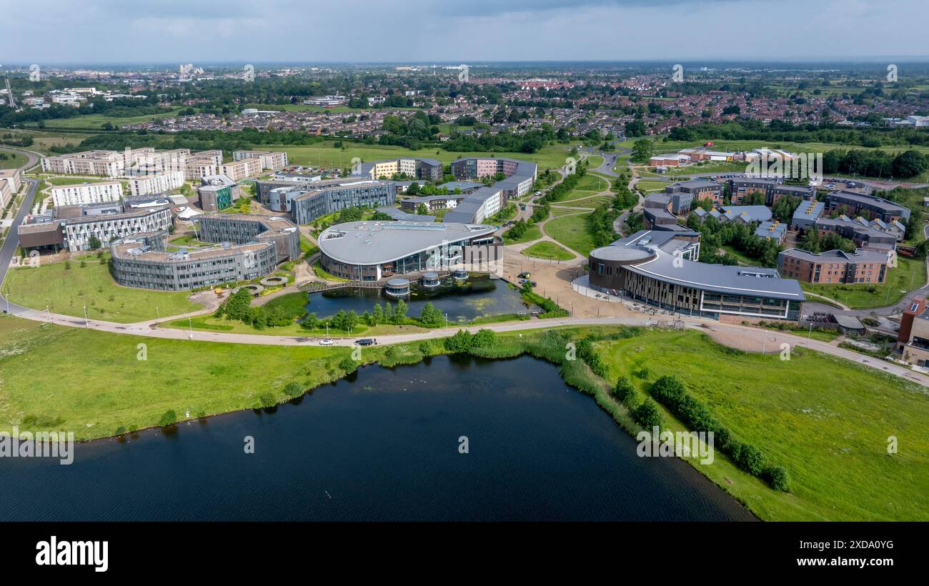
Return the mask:
{"type": "Polygon", "coordinates": [[[204,242],[273,242],[278,262],[300,258],[300,229],[287,218],[276,215],[204,214],[200,240],[204,242]]]}

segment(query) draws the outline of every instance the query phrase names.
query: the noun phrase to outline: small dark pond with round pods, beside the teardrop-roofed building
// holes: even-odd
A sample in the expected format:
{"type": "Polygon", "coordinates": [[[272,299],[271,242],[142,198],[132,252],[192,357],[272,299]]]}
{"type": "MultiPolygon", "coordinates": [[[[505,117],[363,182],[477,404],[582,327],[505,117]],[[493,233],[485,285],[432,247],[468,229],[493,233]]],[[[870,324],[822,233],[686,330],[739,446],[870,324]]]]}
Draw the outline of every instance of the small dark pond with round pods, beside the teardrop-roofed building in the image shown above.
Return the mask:
{"type": "MultiPolygon", "coordinates": [[[[409,306],[407,315],[416,317],[427,302],[448,313],[450,322],[469,321],[481,316],[517,313],[528,307],[515,289],[510,289],[504,280],[490,277],[471,277],[464,283],[451,278],[442,280],[442,285],[427,289],[413,284],[411,294],[403,301],[409,306]]],[[[333,316],[339,309],[359,315],[371,311],[374,304],[383,307],[387,302],[397,305],[397,297],[387,295],[380,289],[345,288],[311,293],[307,312],[316,312],[318,317],[333,316]]]]}

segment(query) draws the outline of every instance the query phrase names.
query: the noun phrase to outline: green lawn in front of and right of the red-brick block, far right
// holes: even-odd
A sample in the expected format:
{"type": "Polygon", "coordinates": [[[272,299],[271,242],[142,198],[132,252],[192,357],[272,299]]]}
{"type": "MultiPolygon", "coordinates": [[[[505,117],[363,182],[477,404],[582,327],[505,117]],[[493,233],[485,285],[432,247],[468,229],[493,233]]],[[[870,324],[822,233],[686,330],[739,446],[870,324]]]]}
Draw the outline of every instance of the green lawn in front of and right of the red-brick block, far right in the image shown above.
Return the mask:
{"type": "Polygon", "coordinates": [[[922,287],[926,281],[926,267],[922,260],[900,257],[897,263],[896,268],[889,269],[887,280],[882,285],[804,282],[800,285],[804,291],[825,295],[853,309],[891,306],[903,299],[907,292],[922,287]]]}

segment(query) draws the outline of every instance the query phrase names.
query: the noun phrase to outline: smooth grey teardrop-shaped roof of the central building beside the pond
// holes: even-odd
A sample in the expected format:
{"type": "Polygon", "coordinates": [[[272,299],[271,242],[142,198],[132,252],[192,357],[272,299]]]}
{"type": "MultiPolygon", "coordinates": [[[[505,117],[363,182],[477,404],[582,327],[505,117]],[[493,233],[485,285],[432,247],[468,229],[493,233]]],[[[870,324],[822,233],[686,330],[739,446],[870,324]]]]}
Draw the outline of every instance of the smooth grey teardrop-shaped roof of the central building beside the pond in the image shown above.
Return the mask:
{"type": "Polygon", "coordinates": [[[378,265],[440,246],[490,236],[485,224],[361,221],[326,228],[318,239],[326,256],[349,265],[378,265]]]}

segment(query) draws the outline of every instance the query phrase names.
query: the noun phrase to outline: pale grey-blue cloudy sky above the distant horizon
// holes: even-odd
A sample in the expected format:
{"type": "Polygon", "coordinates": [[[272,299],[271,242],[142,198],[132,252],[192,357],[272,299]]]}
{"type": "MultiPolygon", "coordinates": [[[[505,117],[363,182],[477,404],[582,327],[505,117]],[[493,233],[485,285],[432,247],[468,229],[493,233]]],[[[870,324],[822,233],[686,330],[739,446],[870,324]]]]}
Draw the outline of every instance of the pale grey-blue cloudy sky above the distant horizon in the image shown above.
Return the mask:
{"type": "Polygon", "coordinates": [[[0,63],[881,59],[927,0],[0,0],[0,63]]]}

